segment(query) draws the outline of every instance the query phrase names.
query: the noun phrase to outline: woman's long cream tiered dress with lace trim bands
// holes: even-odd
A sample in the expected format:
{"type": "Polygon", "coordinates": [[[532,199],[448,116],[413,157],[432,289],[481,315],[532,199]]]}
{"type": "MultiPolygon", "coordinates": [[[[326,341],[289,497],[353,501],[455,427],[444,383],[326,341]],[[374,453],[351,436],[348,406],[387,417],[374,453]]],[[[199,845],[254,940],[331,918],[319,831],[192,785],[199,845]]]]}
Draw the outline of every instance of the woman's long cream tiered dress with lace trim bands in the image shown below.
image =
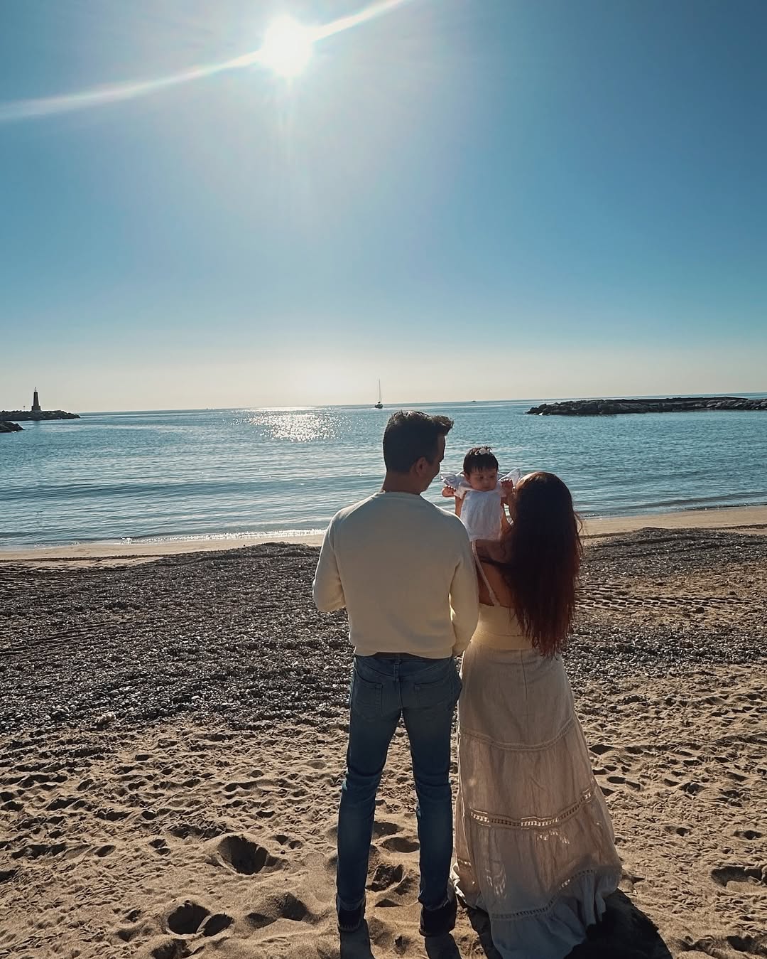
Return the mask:
{"type": "Polygon", "coordinates": [[[453,879],[504,959],[563,959],[620,859],[562,660],[531,647],[478,567],[493,605],[463,654],[453,879]]]}

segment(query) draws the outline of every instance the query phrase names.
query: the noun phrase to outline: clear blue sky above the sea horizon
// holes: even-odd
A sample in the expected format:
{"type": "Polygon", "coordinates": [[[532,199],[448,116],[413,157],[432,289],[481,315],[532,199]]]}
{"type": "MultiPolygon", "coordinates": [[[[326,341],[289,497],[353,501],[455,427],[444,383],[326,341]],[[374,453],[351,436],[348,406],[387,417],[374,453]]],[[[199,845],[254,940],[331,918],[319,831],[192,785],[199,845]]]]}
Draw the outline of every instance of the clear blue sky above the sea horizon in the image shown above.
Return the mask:
{"type": "Polygon", "coordinates": [[[0,408],[767,390],[765,0],[4,0],[0,408]],[[20,103],[25,102],[25,103],[20,103]]]}

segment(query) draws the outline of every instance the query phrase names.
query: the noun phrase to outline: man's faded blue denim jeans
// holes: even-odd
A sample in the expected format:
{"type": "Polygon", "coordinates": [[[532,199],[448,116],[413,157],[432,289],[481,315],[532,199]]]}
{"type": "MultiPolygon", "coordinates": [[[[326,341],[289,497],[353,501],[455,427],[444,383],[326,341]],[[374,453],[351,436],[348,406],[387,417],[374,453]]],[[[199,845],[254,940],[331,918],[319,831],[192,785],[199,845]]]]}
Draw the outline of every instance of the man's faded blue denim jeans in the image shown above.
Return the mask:
{"type": "Polygon", "coordinates": [[[338,908],[356,909],[365,899],[375,793],[400,715],[418,797],[418,900],[427,909],[444,902],[453,853],[450,732],[460,692],[452,657],[354,657],[347,775],[338,809],[338,908]]]}

